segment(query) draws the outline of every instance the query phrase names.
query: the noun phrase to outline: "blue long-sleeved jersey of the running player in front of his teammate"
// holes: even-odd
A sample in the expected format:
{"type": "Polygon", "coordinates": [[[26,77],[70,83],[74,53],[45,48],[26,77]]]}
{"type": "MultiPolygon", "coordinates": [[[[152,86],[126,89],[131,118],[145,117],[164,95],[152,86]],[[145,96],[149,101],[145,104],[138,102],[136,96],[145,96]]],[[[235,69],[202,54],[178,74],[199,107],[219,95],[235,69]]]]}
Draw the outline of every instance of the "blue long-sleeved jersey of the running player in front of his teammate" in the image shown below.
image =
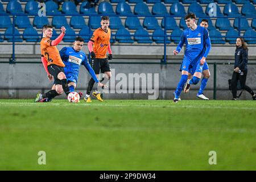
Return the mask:
{"type": "Polygon", "coordinates": [[[210,45],[208,37],[208,31],[204,27],[197,26],[196,30],[187,28],[183,31],[176,50],[180,52],[183,44],[185,43],[185,57],[191,60],[192,63],[195,63],[201,59],[201,57],[207,57],[209,51],[205,49],[205,47],[210,45]]]}

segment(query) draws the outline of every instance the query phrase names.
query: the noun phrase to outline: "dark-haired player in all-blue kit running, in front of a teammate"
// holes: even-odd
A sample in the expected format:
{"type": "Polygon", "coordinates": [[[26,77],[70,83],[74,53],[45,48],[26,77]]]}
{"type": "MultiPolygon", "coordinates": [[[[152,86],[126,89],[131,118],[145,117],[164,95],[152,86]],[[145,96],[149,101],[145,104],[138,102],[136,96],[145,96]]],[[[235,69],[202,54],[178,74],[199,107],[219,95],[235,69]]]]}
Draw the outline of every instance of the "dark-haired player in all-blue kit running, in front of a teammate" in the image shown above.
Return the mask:
{"type": "Polygon", "coordinates": [[[174,51],[174,55],[177,55],[183,44],[186,44],[186,50],[181,65],[181,78],[177,88],[175,90],[174,102],[179,101],[180,93],[183,90],[184,84],[187,82],[184,88],[184,92],[188,92],[191,84],[197,84],[202,76],[205,58],[210,51],[210,40],[208,39],[209,33],[206,28],[197,26],[195,23],[196,15],[189,13],[185,15],[185,22],[187,29],[183,31],[180,42],[174,51]],[[207,47],[204,50],[204,47],[207,47]],[[188,79],[189,71],[192,71],[192,79],[188,79]]]}

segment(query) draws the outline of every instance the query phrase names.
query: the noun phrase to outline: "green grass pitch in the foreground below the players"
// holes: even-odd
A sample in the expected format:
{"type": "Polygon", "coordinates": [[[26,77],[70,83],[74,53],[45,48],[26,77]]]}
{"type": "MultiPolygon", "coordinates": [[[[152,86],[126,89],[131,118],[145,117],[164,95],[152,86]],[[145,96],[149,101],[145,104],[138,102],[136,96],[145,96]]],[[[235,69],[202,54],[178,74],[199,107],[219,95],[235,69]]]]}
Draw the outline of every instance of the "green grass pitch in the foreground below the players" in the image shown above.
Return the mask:
{"type": "Polygon", "coordinates": [[[255,101],[0,100],[0,108],[1,170],[256,169],[255,101]]]}

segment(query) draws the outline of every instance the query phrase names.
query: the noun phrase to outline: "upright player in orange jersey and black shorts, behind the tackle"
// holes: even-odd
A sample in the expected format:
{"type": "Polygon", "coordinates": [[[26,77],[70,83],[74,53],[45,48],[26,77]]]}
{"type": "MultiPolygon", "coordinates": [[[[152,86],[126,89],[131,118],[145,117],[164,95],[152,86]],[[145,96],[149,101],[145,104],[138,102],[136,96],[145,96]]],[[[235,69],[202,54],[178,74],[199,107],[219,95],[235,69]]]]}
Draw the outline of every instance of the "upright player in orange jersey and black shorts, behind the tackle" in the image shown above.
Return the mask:
{"type": "MultiPolygon", "coordinates": [[[[101,27],[98,28],[93,32],[92,38],[90,38],[90,41],[88,42],[88,49],[90,52],[90,55],[92,57],[92,68],[93,71],[96,73],[96,76],[100,74],[100,71],[102,73],[105,73],[105,77],[109,80],[111,77],[110,72],[110,65],[109,60],[112,60],[112,50],[110,48],[110,28],[109,28],[109,16],[102,16],[101,17],[101,27]],[[109,53],[107,58],[107,51],[109,53]]],[[[103,81],[104,78],[102,78],[101,81],[103,81]]],[[[93,85],[94,85],[93,78],[90,79],[86,95],[84,97],[84,101],[86,102],[92,102],[90,100],[90,92],[92,91],[93,85]]],[[[99,101],[103,101],[101,98],[100,92],[98,90],[95,90],[93,92],[93,96],[97,98],[99,101]]]]}

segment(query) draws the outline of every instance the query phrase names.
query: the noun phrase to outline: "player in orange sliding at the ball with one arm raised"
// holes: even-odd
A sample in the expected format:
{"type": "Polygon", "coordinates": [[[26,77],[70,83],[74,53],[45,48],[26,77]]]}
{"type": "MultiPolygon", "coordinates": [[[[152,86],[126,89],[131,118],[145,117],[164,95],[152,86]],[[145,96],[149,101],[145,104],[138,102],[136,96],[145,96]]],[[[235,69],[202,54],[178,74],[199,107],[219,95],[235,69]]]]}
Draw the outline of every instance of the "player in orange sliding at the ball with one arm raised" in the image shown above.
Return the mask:
{"type": "Polygon", "coordinates": [[[55,90],[49,90],[45,94],[39,92],[35,98],[35,102],[43,102],[44,99],[52,100],[52,98],[62,94],[63,91],[67,96],[69,94],[67,78],[63,69],[65,64],[61,60],[60,53],[56,47],[63,39],[65,30],[65,27],[61,27],[61,34],[55,40],[51,40],[52,26],[43,26],[43,38],[40,42],[42,63],[44,69],[46,69],[49,81],[52,81],[54,78],[56,87],[55,90]]]}

